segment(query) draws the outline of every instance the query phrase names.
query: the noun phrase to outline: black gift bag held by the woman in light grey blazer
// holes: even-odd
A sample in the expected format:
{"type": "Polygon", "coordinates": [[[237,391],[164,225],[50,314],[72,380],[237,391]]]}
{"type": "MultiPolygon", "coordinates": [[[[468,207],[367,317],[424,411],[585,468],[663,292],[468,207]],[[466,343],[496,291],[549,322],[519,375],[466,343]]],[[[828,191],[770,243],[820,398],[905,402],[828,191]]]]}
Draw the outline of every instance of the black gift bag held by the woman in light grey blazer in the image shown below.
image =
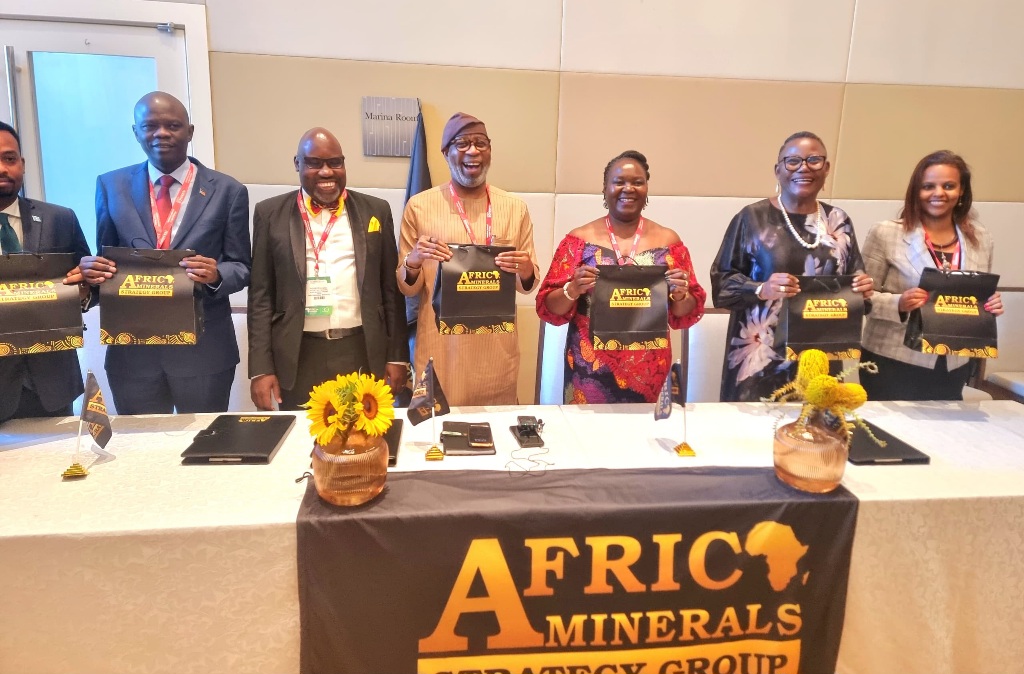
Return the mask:
{"type": "Polygon", "coordinates": [[[995,315],[984,304],[998,284],[997,273],[927,267],[919,286],[928,291],[928,301],[910,312],[903,343],[936,355],[997,357],[995,315]]]}

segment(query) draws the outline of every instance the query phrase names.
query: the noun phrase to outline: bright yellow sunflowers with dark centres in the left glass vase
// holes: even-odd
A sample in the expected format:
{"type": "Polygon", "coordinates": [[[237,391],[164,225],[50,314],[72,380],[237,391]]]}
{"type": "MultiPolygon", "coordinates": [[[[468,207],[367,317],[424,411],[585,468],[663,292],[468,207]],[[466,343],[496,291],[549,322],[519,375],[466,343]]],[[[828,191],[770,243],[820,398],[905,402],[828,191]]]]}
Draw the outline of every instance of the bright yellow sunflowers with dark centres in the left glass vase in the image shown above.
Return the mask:
{"type": "Polygon", "coordinates": [[[336,437],[344,445],[353,430],[380,437],[394,420],[391,387],[372,375],[358,373],[338,375],[313,386],[303,407],[311,422],[309,433],[319,445],[336,437]]]}

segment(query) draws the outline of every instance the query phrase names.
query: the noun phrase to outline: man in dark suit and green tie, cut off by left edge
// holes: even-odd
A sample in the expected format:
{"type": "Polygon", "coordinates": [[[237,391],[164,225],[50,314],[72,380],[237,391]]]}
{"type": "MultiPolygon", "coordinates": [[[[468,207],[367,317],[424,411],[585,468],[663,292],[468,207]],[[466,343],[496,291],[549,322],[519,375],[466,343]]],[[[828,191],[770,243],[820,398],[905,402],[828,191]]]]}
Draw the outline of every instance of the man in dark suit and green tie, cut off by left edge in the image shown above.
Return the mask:
{"type": "MultiPolygon", "coordinates": [[[[19,198],[25,158],[17,131],[0,122],[0,250],[3,253],[74,253],[75,262],[89,254],[78,217],[70,208],[19,198]]],[[[82,283],[76,266],[66,285],[82,283]]],[[[87,287],[81,288],[83,302],[87,287]]],[[[0,423],[25,417],[67,416],[82,391],[78,353],[51,351],[0,357],[0,423]]]]}

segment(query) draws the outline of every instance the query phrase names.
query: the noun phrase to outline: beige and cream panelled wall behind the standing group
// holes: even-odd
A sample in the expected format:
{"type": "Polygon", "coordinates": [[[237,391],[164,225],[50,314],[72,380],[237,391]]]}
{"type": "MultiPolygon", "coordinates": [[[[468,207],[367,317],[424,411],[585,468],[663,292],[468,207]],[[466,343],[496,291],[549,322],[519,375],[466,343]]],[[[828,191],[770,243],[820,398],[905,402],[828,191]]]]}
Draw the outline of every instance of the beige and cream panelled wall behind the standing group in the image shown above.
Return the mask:
{"type": "MultiPolygon", "coordinates": [[[[253,186],[294,183],[296,140],[324,125],[346,149],[350,185],[402,188],[408,160],[361,156],[359,114],[364,95],[409,96],[423,103],[435,184],[447,177],[437,151],[447,117],[487,123],[490,180],[536,210],[545,268],[568,229],[602,212],[606,162],[635,149],[651,164],[648,216],[679,231],[707,284],[730,217],[773,191],[778,146],[803,129],[825,140],[823,198],[861,239],[897,214],[916,161],[949,149],[974,169],[998,250],[1024,246],[1024,3],[206,6],[218,168],[253,186]]],[[[996,253],[995,270],[1004,287],[1024,287],[1009,255],[996,253]]],[[[537,327],[523,328],[529,343],[537,327]]]]}

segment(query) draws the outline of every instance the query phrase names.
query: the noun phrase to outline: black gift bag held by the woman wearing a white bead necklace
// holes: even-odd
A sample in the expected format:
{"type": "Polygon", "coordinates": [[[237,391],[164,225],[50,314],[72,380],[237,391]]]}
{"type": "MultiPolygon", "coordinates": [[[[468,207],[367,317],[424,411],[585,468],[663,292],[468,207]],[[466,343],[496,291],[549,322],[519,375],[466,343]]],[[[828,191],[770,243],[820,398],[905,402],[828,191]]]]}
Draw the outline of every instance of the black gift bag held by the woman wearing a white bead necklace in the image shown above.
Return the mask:
{"type": "Polygon", "coordinates": [[[859,359],[864,297],[853,292],[853,276],[797,277],[800,293],[782,303],[775,329],[775,348],[786,357],[816,348],[829,359],[859,359]]]}

